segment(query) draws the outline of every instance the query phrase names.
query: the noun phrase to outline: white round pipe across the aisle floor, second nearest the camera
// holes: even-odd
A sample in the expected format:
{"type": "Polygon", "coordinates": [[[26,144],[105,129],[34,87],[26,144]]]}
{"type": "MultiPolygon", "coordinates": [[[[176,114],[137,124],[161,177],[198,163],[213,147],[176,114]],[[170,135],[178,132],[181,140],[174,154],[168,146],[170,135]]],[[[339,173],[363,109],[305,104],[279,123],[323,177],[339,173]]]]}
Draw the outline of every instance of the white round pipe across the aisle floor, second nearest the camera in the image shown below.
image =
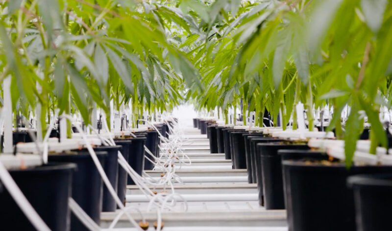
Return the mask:
{"type": "MultiPolygon", "coordinates": [[[[231,194],[184,194],[183,200],[188,202],[207,202],[207,201],[257,201],[258,193],[231,193],[231,194]]],[[[182,201],[177,198],[177,202],[182,201]]],[[[126,195],[126,202],[138,203],[149,202],[145,195],[126,195]]]]}

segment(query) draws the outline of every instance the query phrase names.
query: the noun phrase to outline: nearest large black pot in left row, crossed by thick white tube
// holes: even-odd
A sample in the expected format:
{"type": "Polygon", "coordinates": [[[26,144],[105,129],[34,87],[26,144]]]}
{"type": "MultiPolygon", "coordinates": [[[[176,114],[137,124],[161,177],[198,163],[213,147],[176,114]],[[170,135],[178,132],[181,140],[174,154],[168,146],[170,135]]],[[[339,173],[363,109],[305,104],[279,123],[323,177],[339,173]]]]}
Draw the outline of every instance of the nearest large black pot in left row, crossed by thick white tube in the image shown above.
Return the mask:
{"type": "MultiPolygon", "coordinates": [[[[52,231],[70,230],[68,197],[71,196],[75,168],[72,163],[49,163],[9,170],[31,206],[52,231]]],[[[0,205],[1,230],[35,230],[5,188],[0,190],[0,205]]]]}

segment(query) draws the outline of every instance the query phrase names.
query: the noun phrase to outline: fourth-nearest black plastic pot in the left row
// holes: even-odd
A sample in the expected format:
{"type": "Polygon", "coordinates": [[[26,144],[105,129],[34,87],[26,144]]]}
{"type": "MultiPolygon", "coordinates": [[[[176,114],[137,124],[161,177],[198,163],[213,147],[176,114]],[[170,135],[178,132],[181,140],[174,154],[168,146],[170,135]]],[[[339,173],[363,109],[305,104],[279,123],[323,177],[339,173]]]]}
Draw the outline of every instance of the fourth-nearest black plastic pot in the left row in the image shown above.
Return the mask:
{"type": "MultiPolygon", "coordinates": [[[[121,145],[121,154],[123,155],[124,159],[128,162],[129,155],[130,155],[130,146],[132,141],[131,140],[121,140],[115,139],[116,145],[121,145]]],[[[120,200],[124,202],[125,206],[125,195],[126,195],[126,181],[127,181],[127,172],[123,169],[122,166],[119,164],[119,173],[118,173],[118,186],[117,186],[117,195],[119,196],[120,200]]]]}

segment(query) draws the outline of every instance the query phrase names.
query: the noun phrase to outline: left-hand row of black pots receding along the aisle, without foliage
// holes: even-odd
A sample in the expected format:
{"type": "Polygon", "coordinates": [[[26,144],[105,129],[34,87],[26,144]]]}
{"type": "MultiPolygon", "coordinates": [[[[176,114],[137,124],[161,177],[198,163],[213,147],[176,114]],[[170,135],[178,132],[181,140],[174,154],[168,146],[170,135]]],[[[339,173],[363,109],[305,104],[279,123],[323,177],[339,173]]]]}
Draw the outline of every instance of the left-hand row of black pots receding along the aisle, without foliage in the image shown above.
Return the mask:
{"type": "MultiPolygon", "coordinates": [[[[160,125],[162,126],[166,124],[160,125]]],[[[139,129],[135,135],[118,137],[115,139],[116,146],[94,147],[110,184],[124,204],[126,185],[134,185],[134,182],[120,166],[118,151],[121,151],[125,160],[139,175],[142,175],[143,169],[152,169],[151,166],[145,165],[144,146],[158,155],[157,131],[139,129]]],[[[55,143],[49,144],[49,147],[52,146],[55,146],[55,143]]],[[[28,152],[29,148],[34,149],[34,145],[18,143],[16,148],[20,152],[28,152]]],[[[97,224],[100,222],[101,211],[116,210],[116,201],[103,185],[97,167],[86,148],[63,152],[51,151],[48,160],[49,163],[42,166],[13,168],[9,172],[50,230],[89,230],[74,214],[70,214],[68,197],[72,197],[97,224]]],[[[4,229],[33,229],[7,190],[0,193],[0,201],[4,205],[0,209],[4,229]]]]}

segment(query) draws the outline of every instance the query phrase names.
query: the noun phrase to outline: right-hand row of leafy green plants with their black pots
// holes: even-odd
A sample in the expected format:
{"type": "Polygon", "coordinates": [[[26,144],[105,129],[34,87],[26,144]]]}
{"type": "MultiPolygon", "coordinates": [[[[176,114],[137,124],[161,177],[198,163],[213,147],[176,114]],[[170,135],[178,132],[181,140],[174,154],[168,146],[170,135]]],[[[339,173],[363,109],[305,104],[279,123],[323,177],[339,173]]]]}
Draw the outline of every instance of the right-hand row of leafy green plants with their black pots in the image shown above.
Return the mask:
{"type": "Polygon", "coordinates": [[[289,130],[286,134],[318,127],[343,140],[341,148],[329,148],[327,156],[323,149],[290,150],[309,149],[307,139],[297,143],[287,140],[290,135],[266,138],[256,132],[252,137],[235,126],[216,127],[217,140],[212,142],[218,151],[232,159],[233,167],[243,167],[241,158],[250,157],[246,168],[249,182],[258,184],[260,204],[286,208],[289,230],[390,229],[385,210],[374,207],[384,203],[379,208],[385,208],[389,202],[381,195],[390,190],[384,173],[391,173],[391,167],[374,158],[381,147],[389,148],[391,136],[383,126],[385,120],[391,122],[392,49],[386,42],[391,10],[388,1],[244,3],[238,17],[231,14],[215,22],[217,30],[205,52],[192,53],[206,88],[191,94],[198,110],[215,111],[228,127],[236,125],[239,110],[244,125],[251,117],[251,125],[280,126],[289,130]],[[304,107],[298,107],[299,102],[304,107]],[[272,125],[264,121],[266,110],[272,125]],[[219,149],[221,134],[224,148],[219,149]],[[361,134],[369,141],[358,153],[361,134]],[[355,162],[363,153],[373,162],[355,162]],[[349,178],[357,174],[370,175],[349,178]],[[371,198],[379,200],[366,194],[371,192],[371,198]]]}

